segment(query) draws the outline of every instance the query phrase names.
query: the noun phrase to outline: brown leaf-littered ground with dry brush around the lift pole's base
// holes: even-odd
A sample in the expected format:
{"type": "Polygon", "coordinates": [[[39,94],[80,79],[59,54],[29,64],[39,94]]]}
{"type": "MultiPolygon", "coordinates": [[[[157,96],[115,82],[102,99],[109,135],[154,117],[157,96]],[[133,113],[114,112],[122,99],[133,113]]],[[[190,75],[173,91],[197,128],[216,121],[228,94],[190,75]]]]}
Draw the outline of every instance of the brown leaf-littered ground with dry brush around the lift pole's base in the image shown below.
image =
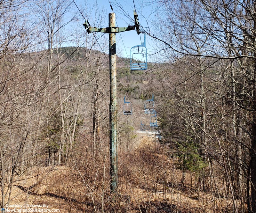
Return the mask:
{"type": "Polygon", "coordinates": [[[60,212],[101,212],[102,202],[104,212],[233,212],[231,199],[198,191],[193,174],[188,173],[181,185],[175,159],[159,143],[144,139],[130,152],[119,150],[116,202],[109,196],[108,157],[104,173],[104,155],[93,161],[81,153],[75,156],[76,167],[34,168],[21,176],[11,204],[47,204],[60,212]]]}

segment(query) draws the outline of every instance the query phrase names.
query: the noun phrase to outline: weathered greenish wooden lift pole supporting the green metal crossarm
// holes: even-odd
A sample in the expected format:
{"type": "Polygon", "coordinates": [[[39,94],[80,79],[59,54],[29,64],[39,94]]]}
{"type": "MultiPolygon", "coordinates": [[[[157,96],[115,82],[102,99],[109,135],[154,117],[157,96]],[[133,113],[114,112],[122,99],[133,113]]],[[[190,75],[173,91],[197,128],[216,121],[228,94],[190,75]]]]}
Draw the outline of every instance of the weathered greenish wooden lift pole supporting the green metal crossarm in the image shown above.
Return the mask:
{"type": "MultiPolygon", "coordinates": [[[[108,14],[109,27],[116,26],[116,14],[108,14]]],[[[117,102],[116,102],[116,33],[109,33],[109,152],[110,152],[110,190],[117,190],[117,102]]]]}

